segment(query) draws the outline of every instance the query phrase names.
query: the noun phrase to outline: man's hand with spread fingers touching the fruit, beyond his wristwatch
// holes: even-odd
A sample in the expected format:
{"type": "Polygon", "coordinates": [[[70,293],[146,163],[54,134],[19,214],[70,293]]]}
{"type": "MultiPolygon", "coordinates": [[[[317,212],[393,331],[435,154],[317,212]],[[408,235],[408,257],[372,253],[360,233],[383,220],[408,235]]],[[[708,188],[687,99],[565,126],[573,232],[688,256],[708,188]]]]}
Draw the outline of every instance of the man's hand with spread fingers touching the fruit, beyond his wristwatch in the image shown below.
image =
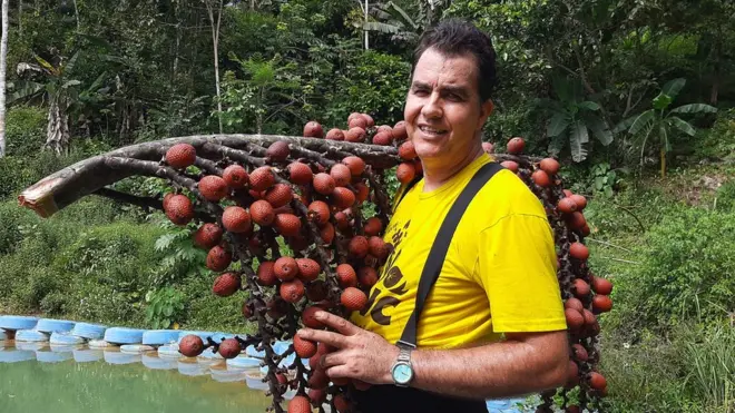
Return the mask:
{"type": "Polygon", "coordinates": [[[356,378],[371,384],[392,384],[391,367],[399,348],[375,333],[364,331],[334,314],[318,311],[314,317],[335,332],[303,328],[298,336],[324,343],[335,352],[322,356],[331,378],[356,378]]]}

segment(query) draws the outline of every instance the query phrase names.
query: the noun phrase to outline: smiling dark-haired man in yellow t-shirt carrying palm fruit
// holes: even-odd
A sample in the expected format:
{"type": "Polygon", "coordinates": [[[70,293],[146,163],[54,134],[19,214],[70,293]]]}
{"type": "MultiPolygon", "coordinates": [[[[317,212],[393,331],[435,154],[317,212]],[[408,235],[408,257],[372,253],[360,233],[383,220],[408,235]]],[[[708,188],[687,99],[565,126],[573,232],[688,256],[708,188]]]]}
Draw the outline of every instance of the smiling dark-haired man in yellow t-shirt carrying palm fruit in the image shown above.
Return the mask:
{"type": "Polygon", "coordinates": [[[353,314],[352,322],[320,313],[334,332],[298,332],[336,348],[322,358],[330,377],[372,384],[357,393],[362,412],[487,412],[487,399],[566,382],[569,356],[553,235],[541,203],[504,169],[463,212],[418,314],[415,343],[400,342],[448,210],[473,175],[496,164],[480,140],[493,108],[494,73],[491,41],[473,26],[450,20],[422,36],[404,119],[424,176],[400,200],[386,228],[393,252],[369,308],[353,314]]]}

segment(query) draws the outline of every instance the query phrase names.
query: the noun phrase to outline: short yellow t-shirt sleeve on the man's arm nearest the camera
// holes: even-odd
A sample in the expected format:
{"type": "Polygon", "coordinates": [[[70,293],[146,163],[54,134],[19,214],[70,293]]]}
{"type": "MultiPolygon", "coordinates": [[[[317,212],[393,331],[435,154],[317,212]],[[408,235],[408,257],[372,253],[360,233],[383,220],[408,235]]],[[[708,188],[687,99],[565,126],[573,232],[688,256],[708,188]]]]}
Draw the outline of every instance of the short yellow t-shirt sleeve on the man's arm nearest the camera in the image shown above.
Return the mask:
{"type": "Polygon", "coordinates": [[[497,333],[566,330],[553,234],[538,215],[512,214],[480,233],[474,275],[497,333]]]}

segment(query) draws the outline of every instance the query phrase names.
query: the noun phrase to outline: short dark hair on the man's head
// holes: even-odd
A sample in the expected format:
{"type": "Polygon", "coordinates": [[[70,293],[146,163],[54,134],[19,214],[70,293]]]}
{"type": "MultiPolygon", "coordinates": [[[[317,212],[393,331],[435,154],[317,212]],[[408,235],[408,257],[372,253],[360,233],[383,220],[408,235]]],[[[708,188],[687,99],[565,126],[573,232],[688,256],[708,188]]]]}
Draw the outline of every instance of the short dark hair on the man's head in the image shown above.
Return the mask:
{"type": "Polygon", "coordinates": [[[451,57],[472,55],[478,62],[480,101],[484,102],[490,98],[498,79],[496,78],[496,50],[488,35],[463,20],[440,21],[421,35],[419,46],[413,52],[411,77],[413,77],[421,55],[430,48],[451,57]]]}

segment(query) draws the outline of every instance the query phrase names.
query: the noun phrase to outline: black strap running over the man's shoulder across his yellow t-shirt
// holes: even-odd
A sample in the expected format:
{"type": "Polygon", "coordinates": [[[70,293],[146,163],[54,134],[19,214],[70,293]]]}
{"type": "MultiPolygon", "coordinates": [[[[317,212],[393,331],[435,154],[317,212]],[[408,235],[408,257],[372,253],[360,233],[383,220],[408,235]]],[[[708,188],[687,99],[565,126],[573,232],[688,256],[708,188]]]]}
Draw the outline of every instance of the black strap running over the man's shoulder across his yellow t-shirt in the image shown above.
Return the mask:
{"type": "Polygon", "coordinates": [[[419,317],[423,311],[423,305],[427,302],[429,292],[437,283],[439,275],[441,274],[441,268],[444,265],[444,259],[447,258],[447,252],[449,250],[449,245],[452,242],[454,230],[459,225],[464,210],[470,205],[474,195],[484,186],[486,183],[492,178],[496,173],[503,169],[500,164],[496,161],[488,163],[483,165],[476,174],[472,176],[470,181],[467,184],[462,193],[459,195],[452,207],[447,213],[444,222],[439,227],[439,233],[434,239],[431,249],[429,250],[429,257],[427,263],[423,265],[423,271],[421,272],[421,278],[419,279],[419,288],[416,292],[416,304],[413,308],[413,313],[409,317],[409,321],[403,328],[403,334],[399,344],[408,345],[411,347],[416,346],[416,330],[419,325],[419,317]]]}

